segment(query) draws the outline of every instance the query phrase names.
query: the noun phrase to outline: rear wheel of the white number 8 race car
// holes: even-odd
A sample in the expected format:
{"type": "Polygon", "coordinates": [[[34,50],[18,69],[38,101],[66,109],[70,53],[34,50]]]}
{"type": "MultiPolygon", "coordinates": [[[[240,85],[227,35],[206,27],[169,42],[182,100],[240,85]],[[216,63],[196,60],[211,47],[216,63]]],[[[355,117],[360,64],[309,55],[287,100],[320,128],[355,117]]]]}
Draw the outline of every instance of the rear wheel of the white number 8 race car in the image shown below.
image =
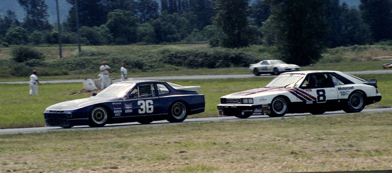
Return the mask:
{"type": "Polygon", "coordinates": [[[343,104],[343,111],[346,113],[361,112],[365,108],[365,96],[361,91],[354,91],[343,104]]]}

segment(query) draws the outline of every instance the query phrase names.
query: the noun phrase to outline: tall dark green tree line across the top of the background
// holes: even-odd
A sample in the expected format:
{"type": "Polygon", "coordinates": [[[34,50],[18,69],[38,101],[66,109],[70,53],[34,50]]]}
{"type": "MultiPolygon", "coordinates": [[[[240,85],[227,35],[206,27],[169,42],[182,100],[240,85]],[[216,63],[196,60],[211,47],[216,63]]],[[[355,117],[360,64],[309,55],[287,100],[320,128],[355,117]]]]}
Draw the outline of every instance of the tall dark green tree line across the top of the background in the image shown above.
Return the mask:
{"type": "MultiPolygon", "coordinates": [[[[0,45],[56,44],[44,0],[18,0],[25,19],[0,17],[0,45]]],[[[75,0],[60,23],[62,42],[76,39],[75,0]]],[[[306,65],[324,48],[392,38],[392,0],[77,0],[86,45],[208,41],[213,47],[271,46],[278,58],[306,65]]]]}

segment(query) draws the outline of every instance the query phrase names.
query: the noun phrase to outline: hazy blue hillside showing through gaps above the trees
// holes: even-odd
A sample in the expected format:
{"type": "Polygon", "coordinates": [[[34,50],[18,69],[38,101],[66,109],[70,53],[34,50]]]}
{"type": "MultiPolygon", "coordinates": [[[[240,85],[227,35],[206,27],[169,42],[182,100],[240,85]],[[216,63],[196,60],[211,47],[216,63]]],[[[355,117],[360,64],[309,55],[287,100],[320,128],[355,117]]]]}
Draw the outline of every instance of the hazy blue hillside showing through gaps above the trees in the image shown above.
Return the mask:
{"type": "MultiPolygon", "coordinates": [[[[160,0],[156,0],[160,3],[160,0]]],[[[251,0],[252,2],[255,0],[251,0]]],[[[341,0],[341,2],[346,2],[348,6],[354,6],[358,8],[361,3],[360,0],[341,0]]],[[[56,14],[56,1],[55,0],[45,0],[48,5],[48,14],[49,14],[49,22],[55,23],[57,22],[57,14],[56,14]]],[[[60,11],[60,21],[63,22],[67,19],[68,12],[71,9],[71,4],[69,4],[66,0],[58,0],[59,3],[59,11],[60,11]]],[[[19,5],[18,0],[0,0],[0,16],[5,16],[7,10],[11,10],[16,13],[17,18],[22,21],[25,18],[25,11],[19,5]]]]}

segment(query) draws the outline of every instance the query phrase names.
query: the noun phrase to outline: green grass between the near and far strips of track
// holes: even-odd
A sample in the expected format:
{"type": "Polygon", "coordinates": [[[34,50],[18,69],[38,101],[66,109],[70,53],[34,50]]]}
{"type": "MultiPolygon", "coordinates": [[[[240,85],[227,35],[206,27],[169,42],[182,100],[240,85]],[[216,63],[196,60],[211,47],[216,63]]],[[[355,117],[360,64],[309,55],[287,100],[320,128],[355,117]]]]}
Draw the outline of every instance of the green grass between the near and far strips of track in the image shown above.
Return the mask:
{"type": "MultiPolygon", "coordinates": [[[[369,107],[390,107],[392,105],[392,74],[358,76],[365,79],[376,78],[378,91],[383,98],[369,107]]],[[[263,87],[272,78],[245,79],[203,79],[203,80],[168,80],[183,86],[201,86],[199,93],[205,95],[204,113],[190,117],[217,116],[216,105],[220,97],[234,92],[263,87]]],[[[39,86],[39,96],[28,96],[28,84],[0,84],[0,128],[44,126],[43,112],[55,103],[89,97],[90,95],[70,95],[82,90],[81,83],[43,84],[39,86]]]]}

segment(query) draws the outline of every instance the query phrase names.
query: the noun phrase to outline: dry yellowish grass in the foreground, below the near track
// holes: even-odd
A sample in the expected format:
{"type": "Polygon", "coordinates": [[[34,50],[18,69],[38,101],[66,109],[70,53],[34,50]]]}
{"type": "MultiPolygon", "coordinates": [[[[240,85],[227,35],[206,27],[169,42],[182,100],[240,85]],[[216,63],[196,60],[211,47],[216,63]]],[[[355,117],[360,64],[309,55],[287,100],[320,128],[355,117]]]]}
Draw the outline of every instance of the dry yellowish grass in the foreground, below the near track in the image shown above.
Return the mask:
{"type": "Polygon", "coordinates": [[[392,113],[0,137],[0,172],[392,170],[392,113]]]}

